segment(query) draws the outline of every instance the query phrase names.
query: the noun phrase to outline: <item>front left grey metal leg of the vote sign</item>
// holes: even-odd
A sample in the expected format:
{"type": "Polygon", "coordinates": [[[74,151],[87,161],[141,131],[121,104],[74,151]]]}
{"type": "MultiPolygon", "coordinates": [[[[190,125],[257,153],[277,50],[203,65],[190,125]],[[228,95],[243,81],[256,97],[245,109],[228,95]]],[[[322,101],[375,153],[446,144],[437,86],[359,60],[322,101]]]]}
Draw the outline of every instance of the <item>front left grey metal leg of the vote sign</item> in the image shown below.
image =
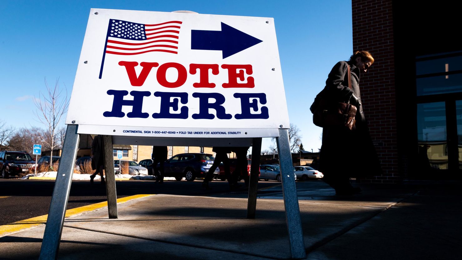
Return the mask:
{"type": "Polygon", "coordinates": [[[79,145],[77,127],[77,125],[67,126],[58,173],[56,175],[55,188],[51,197],[47,225],[43,233],[39,260],[54,260],[58,255],[67,200],[69,199],[69,191],[71,190],[75,157],[77,156],[79,145]]]}

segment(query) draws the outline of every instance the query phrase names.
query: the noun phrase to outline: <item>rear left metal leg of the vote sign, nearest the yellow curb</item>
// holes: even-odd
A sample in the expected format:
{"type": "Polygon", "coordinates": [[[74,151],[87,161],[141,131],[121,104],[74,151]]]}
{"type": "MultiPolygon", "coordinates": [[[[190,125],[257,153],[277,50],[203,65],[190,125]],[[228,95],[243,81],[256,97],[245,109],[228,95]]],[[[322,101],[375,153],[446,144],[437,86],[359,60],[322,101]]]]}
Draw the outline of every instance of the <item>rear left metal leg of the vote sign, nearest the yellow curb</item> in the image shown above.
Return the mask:
{"type": "MultiPolygon", "coordinates": [[[[108,195],[109,218],[117,218],[116,175],[114,173],[114,155],[112,136],[103,135],[104,172],[106,173],[106,193],[108,195]]],[[[122,164],[120,164],[122,167],[122,164]]]]}

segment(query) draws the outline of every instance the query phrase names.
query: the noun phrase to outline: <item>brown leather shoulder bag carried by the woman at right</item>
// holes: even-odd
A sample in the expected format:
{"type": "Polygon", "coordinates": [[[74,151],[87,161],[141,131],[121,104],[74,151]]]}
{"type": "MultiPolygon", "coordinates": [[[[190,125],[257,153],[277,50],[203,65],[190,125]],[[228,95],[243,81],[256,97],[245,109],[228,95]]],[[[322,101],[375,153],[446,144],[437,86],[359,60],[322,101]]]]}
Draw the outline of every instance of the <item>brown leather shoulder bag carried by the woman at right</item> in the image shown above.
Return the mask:
{"type": "MultiPolygon", "coordinates": [[[[348,88],[351,89],[350,66],[347,66],[348,88]]],[[[355,116],[358,110],[350,103],[333,103],[325,97],[322,90],[310,107],[313,113],[313,123],[318,127],[346,127],[353,129],[356,123],[355,116]]]]}

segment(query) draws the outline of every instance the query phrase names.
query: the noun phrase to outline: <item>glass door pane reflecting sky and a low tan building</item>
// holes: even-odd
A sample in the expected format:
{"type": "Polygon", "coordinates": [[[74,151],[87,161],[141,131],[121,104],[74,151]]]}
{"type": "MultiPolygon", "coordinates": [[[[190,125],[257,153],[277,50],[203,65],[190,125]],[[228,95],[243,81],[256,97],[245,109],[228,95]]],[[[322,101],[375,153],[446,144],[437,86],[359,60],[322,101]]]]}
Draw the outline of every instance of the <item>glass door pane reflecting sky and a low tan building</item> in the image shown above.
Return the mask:
{"type": "Polygon", "coordinates": [[[417,104],[417,134],[419,168],[425,171],[448,169],[444,102],[417,104]]]}

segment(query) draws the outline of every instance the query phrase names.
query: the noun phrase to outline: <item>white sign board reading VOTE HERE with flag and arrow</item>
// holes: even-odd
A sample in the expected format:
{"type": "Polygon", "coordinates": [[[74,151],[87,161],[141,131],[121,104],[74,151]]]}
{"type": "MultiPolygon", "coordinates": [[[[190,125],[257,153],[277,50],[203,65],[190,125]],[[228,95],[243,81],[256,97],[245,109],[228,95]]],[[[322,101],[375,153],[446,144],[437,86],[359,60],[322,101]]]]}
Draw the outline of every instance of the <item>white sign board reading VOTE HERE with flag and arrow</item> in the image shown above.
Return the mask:
{"type": "Polygon", "coordinates": [[[78,133],[251,138],[288,128],[273,18],[91,9],[78,133]]]}

